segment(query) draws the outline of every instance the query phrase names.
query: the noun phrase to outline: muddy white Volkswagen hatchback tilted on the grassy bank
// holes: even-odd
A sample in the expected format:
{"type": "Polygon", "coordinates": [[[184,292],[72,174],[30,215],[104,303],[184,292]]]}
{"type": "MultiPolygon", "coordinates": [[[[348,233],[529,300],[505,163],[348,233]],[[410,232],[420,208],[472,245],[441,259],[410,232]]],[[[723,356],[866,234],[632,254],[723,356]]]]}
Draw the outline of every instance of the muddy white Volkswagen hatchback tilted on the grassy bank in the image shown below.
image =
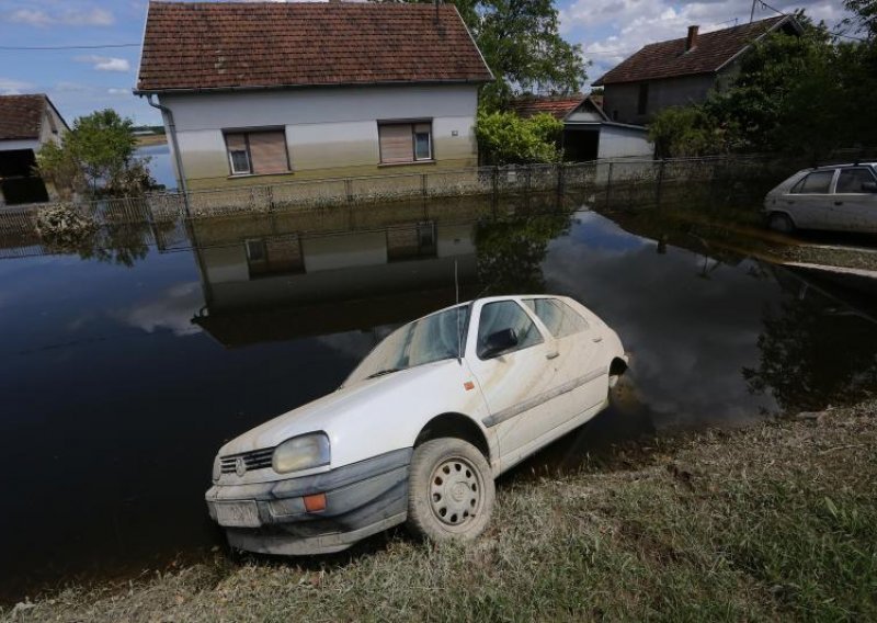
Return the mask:
{"type": "Polygon", "coordinates": [[[409,322],[334,393],[225,444],[206,494],[231,546],[322,554],[399,523],[471,539],[493,479],[579,427],[627,369],[618,336],[562,296],[500,296],[409,322]]]}

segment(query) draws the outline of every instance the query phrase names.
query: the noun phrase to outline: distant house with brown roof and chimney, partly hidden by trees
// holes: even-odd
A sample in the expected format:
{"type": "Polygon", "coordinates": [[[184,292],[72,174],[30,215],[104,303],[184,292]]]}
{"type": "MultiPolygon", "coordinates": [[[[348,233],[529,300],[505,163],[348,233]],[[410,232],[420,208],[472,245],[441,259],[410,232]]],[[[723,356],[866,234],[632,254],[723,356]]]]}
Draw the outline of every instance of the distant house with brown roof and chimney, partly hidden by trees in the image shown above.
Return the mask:
{"type": "Polygon", "coordinates": [[[603,87],[603,110],[612,121],[646,124],[662,109],[703,102],[710,89],[727,86],[751,46],[774,32],[799,35],[801,27],[791,15],[705,34],[690,26],[685,37],[645,46],[594,87],[603,87]]]}

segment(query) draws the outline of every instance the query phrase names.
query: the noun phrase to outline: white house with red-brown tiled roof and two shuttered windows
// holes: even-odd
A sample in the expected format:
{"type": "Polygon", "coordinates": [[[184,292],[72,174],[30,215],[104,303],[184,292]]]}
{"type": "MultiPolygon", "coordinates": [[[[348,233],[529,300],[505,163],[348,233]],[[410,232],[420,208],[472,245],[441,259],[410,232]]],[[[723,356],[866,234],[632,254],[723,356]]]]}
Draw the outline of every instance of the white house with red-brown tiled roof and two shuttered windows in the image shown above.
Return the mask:
{"type": "Polygon", "coordinates": [[[136,92],[192,190],[475,166],[492,79],[449,4],[151,2],[136,92]]]}

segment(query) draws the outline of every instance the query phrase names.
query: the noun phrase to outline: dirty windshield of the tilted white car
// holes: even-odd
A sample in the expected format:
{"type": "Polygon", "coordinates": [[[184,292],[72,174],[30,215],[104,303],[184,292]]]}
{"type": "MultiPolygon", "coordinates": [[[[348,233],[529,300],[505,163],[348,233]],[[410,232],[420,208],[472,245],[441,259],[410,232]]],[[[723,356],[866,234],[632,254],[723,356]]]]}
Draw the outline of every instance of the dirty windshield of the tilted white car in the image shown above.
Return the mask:
{"type": "Polygon", "coordinates": [[[397,329],[356,366],[344,385],[460,355],[469,305],[458,305],[397,329]]]}

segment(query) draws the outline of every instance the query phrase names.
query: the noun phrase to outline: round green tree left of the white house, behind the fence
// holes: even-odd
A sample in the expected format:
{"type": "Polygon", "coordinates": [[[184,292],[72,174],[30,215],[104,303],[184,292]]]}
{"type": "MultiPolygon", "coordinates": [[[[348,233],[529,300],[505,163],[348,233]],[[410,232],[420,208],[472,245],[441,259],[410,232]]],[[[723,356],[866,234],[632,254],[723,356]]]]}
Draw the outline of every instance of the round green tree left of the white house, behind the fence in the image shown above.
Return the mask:
{"type": "Polygon", "coordinates": [[[39,149],[39,174],[58,188],[88,189],[92,196],[143,193],[155,181],[147,162],[134,156],[133,125],[112,109],[78,117],[62,146],[47,143],[39,149]]]}

